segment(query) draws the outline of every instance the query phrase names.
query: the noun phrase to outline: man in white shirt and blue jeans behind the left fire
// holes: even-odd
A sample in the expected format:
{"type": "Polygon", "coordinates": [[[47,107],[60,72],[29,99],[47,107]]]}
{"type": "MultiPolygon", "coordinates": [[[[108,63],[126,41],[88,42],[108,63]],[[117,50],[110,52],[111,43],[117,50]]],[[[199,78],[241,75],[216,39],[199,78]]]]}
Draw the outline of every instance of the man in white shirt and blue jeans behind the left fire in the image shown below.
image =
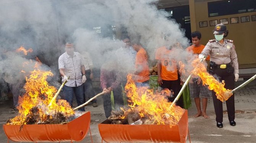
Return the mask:
{"type": "MultiPolygon", "coordinates": [[[[72,43],[66,43],[66,52],[58,59],[58,66],[62,82],[68,80],[63,87],[64,99],[68,101],[72,107],[73,94],[75,93],[78,106],[84,103],[83,83],[86,81],[84,62],[78,52],[74,52],[72,43]],[[68,76],[70,78],[68,79],[68,76]]],[[[84,107],[79,108],[79,111],[85,111],[84,107]]]]}

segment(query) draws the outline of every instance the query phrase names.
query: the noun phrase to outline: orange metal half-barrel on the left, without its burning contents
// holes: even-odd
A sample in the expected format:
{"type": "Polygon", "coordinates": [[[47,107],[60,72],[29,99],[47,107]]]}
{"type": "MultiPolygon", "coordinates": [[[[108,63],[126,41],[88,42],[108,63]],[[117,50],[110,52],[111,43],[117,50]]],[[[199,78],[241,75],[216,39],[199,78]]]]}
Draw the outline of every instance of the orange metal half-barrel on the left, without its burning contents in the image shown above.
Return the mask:
{"type": "Polygon", "coordinates": [[[12,141],[81,141],[88,132],[90,122],[91,114],[85,112],[68,124],[23,125],[21,130],[21,125],[3,125],[3,130],[12,141]]]}

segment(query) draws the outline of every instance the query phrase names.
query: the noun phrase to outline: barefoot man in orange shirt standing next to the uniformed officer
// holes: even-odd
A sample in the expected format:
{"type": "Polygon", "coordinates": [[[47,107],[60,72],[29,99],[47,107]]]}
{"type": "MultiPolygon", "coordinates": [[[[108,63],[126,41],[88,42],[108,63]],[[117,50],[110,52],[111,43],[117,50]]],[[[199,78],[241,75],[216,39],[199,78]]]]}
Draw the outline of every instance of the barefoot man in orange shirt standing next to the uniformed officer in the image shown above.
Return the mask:
{"type": "MultiPolygon", "coordinates": [[[[204,49],[204,45],[200,43],[201,33],[199,31],[192,32],[191,37],[192,37],[193,45],[186,48],[186,50],[193,54],[199,55],[201,51],[203,51],[204,49]]],[[[210,59],[210,56],[206,58],[206,60],[209,60],[209,59],[210,59]]],[[[191,98],[194,98],[194,101],[196,103],[196,108],[197,108],[197,113],[194,115],[194,117],[204,116],[204,118],[209,118],[209,116],[207,116],[206,114],[206,107],[207,107],[208,98],[210,97],[211,93],[208,90],[208,88],[202,84],[202,80],[200,78],[196,77],[191,80],[192,81],[189,83],[190,96],[191,98]],[[199,95],[202,96],[203,110],[201,110],[199,95]]]]}

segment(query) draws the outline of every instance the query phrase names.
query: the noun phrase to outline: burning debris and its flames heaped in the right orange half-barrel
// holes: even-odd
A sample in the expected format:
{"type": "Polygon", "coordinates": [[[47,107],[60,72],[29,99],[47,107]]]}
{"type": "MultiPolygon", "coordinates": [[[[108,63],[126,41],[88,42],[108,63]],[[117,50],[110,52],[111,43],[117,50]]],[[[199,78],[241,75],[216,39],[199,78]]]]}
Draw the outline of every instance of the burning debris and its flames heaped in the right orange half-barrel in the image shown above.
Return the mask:
{"type": "Polygon", "coordinates": [[[170,107],[166,96],[172,92],[166,89],[154,93],[146,87],[137,88],[129,74],[125,86],[126,95],[129,98],[129,108],[121,108],[120,111],[112,111],[108,118],[111,124],[169,124],[177,125],[185,109],[179,106],[170,107]]]}

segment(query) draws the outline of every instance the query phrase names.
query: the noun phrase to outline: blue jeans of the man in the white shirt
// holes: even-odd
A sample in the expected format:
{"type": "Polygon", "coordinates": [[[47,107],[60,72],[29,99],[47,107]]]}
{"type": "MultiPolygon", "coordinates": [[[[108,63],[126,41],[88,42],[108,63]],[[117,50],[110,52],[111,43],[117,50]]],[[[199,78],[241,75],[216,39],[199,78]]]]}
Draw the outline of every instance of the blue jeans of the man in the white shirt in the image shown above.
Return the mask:
{"type": "MultiPolygon", "coordinates": [[[[70,104],[70,106],[73,106],[73,95],[75,93],[76,96],[76,102],[77,105],[81,105],[84,103],[84,96],[83,96],[84,88],[83,84],[80,85],[79,87],[68,87],[64,85],[63,87],[63,94],[64,94],[64,99],[70,104]]],[[[84,107],[81,107],[78,109],[79,111],[85,111],[84,107]]]]}

